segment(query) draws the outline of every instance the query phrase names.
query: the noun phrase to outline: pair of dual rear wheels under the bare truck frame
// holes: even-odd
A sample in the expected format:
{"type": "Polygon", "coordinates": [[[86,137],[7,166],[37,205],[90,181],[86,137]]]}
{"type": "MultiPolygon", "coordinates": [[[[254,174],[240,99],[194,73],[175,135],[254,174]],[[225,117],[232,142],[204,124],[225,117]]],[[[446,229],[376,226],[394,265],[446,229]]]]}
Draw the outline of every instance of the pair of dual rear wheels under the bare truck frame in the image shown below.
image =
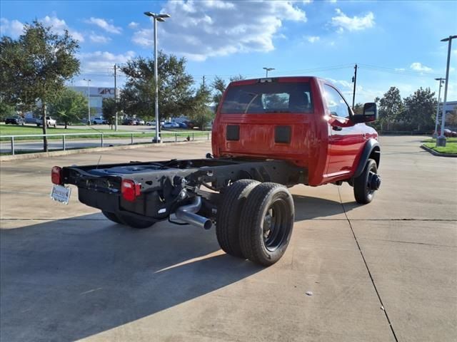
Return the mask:
{"type": "Polygon", "coordinates": [[[219,205],[216,233],[226,253],[270,266],[286,252],[293,218],[293,199],[286,187],[238,180],[219,205]]]}

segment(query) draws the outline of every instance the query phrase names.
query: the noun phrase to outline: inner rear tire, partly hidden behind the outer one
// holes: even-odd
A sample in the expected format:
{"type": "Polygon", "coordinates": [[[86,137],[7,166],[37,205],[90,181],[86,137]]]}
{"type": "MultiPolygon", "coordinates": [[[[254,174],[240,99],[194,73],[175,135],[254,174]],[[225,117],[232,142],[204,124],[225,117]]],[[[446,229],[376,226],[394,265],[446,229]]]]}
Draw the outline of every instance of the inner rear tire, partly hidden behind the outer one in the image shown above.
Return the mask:
{"type": "Polygon", "coordinates": [[[258,184],[256,180],[237,180],[222,195],[216,214],[216,237],[221,249],[233,257],[244,257],[239,234],[241,209],[258,184]]]}

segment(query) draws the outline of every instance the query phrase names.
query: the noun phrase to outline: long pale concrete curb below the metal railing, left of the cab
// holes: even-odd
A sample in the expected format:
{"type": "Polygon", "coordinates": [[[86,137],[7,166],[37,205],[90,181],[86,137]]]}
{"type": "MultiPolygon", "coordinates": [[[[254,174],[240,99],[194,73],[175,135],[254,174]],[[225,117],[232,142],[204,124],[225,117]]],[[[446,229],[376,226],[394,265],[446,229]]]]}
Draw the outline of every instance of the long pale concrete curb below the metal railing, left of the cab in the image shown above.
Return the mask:
{"type": "Polygon", "coordinates": [[[185,144],[201,144],[203,142],[211,142],[211,140],[194,140],[192,142],[162,142],[161,144],[155,144],[149,142],[146,144],[137,144],[137,145],[121,145],[121,146],[110,146],[110,147],[90,147],[83,148],[78,150],[65,150],[65,151],[51,151],[51,152],[36,152],[36,153],[24,153],[24,155],[2,155],[0,156],[0,162],[9,162],[13,160],[26,160],[26,159],[36,159],[41,157],[59,157],[61,155],[78,155],[80,153],[90,153],[90,152],[105,152],[113,150],[132,150],[134,148],[141,147],[166,147],[166,146],[176,146],[176,145],[185,145],[185,144]]]}

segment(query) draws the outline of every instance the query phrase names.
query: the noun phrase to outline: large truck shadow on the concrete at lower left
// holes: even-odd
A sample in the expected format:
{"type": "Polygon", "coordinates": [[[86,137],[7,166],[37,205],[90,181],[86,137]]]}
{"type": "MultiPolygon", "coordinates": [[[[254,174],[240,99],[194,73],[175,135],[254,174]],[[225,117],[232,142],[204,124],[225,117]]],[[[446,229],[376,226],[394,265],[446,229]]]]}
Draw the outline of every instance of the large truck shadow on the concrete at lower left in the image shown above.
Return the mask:
{"type": "Polygon", "coordinates": [[[129,229],[91,214],[0,231],[0,340],[74,341],[261,271],[213,232],[129,229]],[[203,257],[203,259],[196,259],[203,257]]]}

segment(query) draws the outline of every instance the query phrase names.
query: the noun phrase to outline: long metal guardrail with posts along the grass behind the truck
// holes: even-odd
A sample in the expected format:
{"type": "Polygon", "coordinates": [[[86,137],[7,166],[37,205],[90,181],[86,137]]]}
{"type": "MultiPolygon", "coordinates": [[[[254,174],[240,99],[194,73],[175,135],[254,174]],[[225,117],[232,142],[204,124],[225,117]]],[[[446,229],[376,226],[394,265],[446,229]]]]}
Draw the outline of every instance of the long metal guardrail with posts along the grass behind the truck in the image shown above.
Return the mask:
{"type": "MultiPolygon", "coordinates": [[[[16,138],[31,138],[31,137],[41,137],[44,138],[46,137],[62,137],[62,148],[59,150],[67,150],[66,146],[66,137],[69,136],[91,136],[94,137],[94,135],[99,135],[100,137],[100,146],[104,146],[104,140],[113,138],[113,135],[126,135],[130,137],[130,144],[134,144],[134,138],[153,138],[155,140],[156,135],[155,133],[145,133],[145,132],[105,132],[105,133],[51,133],[51,134],[28,134],[28,135],[0,135],[0,139],[4,138],[9,138],[11,141],[11,155],[15,155],[16,151],[16,138]],[[108,136],[106,138],[106,136],[108,136]]],[[[186,140],[187,141],[194,141],[195,138],[206,138],[207,140],[210,140],[211,138],[211,131],[184,131],[184,132],[160,132],[159,137],[160,140],[164,141],[165,138],[170,138],[171,141],[177,142],[178,138],[183,138],[183,135],[187,135],[186,140]]],[[[84,139],[84,138],[83,138],[84,139]]],[[[90,139],[90,138],[86,138],[90,139]]],[[[151,140],[151,142],[154,142],[154,140],[151,140]]],[[[170,141],[170,140],[169,140],[170,141]]]]}

